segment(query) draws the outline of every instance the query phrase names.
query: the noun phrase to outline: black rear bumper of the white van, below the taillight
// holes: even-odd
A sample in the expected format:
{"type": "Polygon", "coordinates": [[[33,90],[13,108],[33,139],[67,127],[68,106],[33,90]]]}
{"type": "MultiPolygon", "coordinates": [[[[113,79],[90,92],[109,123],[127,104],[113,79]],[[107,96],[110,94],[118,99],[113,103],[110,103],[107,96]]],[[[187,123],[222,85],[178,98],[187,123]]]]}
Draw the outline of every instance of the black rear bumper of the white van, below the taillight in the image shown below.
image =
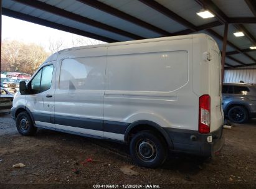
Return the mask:
{"type": "Polygon", "coordinates": [[[171,150],[187,154],[213,157],[219,154],[225,142],[224,136],[222,136],[222,127],[209,134],[186,129],[164,129],[173,143],[171,150]]]}

